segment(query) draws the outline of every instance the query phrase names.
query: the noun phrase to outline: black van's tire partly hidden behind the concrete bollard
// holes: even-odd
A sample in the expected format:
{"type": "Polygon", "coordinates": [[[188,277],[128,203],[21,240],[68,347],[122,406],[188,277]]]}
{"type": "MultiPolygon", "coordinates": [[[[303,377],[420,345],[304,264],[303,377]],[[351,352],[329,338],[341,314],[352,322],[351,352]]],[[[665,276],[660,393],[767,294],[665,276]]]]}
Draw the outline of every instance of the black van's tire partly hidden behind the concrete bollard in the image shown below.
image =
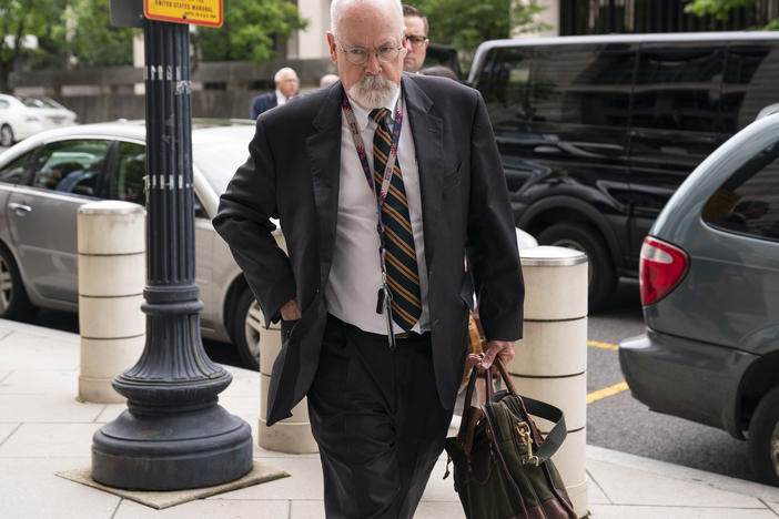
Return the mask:
{"type": "Polygon", "coordinates": [[[560,222],[542,231],[538,244],[576,248],[587,254],[589,312],[606,306],[617,286],[617,273],[600,235],[586,225],[560,222]]]}

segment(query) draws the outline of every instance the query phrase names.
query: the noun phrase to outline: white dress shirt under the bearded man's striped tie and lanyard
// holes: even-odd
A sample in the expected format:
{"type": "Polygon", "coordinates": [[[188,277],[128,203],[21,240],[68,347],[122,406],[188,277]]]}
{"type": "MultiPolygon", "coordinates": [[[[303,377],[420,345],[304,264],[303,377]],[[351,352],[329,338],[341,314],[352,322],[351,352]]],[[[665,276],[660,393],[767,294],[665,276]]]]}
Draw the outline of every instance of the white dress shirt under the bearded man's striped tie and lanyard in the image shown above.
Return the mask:
{"type": "MultiPolygon", "coordinates": [[[[399,90],[398,90],[399,94],[399,90]]],[[[386,105],[394,114],[395,99],[386,105]]],[[[365,110],[351,102],[357,126],[361,130],[365,154],[373,172],[373,134],[376,123],[365,110]]],[[[425,263],[425,241],[422,230],[422,199],[419,193],[419,170],[408,116],[403,103],[401,140],[397,144],[397,160],[403,174],[403,185],[408,201],[408,216],[414,232],[416,263],[419,273],[422,315],[412,328],[414,332],[429,329],[427,305],[427,266],[425,263]]],[[[388,120],[389,118],[387,118],[388,120]]],[[[394,122],[394,116],[393,116],[394,122]]],[[[393,122],[391,122],[391,128],[393,122]]],[[[381,189],[381,184],[376,187],[381,189]]],[[[338,215],[335,227],[335,248],[330,271],[325,299],[327,311],[345,323],[364,332],[387,334],[386,319],[376,313],[376,294],[382,286],[382,272],[378,260],[378,233],[376,223],[378,208],[376,197],[368,186],[362,163],[357,156],[352,131],[346,118],[341,116],[341,185],[338,189],[338,215]]],[[[395,333],[403,329],[395,323],[395,333]]]]}

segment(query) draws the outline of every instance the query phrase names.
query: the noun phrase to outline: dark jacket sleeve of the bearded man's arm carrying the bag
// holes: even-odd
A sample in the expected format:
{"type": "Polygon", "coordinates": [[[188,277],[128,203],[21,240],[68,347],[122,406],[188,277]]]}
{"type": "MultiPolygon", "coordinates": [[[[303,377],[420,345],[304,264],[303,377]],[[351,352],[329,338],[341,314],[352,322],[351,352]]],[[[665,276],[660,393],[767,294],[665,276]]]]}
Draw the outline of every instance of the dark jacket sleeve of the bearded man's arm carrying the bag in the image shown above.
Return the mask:
{"type": "Polygon", "coordinates": [[[525,284],[506,177],[480,94],[471,134],[471,207],[466,248],[488,340],[522,338],[525,284]]]}

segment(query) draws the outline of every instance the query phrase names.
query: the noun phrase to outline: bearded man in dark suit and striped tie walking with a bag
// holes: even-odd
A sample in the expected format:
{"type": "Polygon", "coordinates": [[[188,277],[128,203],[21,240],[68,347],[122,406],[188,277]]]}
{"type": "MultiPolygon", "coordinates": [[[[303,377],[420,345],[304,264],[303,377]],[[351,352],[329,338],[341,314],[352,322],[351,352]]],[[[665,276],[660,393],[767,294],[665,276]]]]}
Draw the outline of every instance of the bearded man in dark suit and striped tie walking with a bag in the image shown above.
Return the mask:
{"type": "Polygon", "coordinates": [[[478,92],[403,73],[397,0],[334,0],[331,20],[341,81],[257,120],[214,226],[282,320],[267,424],[308,396],[327,517],[407,518],[452,418],[474,283],[488,343],[471,360],[488,368],[522,335],[522,267],[478,92]]]}

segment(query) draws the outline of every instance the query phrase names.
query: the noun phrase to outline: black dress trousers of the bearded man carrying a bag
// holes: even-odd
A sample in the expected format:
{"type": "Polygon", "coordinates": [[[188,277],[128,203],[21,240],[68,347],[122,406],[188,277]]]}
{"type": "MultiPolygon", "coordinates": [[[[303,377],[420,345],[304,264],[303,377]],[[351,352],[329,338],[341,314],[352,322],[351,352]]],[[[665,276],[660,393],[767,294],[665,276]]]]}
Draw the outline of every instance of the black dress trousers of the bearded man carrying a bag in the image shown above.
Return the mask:
{"type": "Polygon", "coordinates": [[[328,519],[411,518],[444,447],[429,334],[398,339],[328,316],[308,415],[328,519]]]}

